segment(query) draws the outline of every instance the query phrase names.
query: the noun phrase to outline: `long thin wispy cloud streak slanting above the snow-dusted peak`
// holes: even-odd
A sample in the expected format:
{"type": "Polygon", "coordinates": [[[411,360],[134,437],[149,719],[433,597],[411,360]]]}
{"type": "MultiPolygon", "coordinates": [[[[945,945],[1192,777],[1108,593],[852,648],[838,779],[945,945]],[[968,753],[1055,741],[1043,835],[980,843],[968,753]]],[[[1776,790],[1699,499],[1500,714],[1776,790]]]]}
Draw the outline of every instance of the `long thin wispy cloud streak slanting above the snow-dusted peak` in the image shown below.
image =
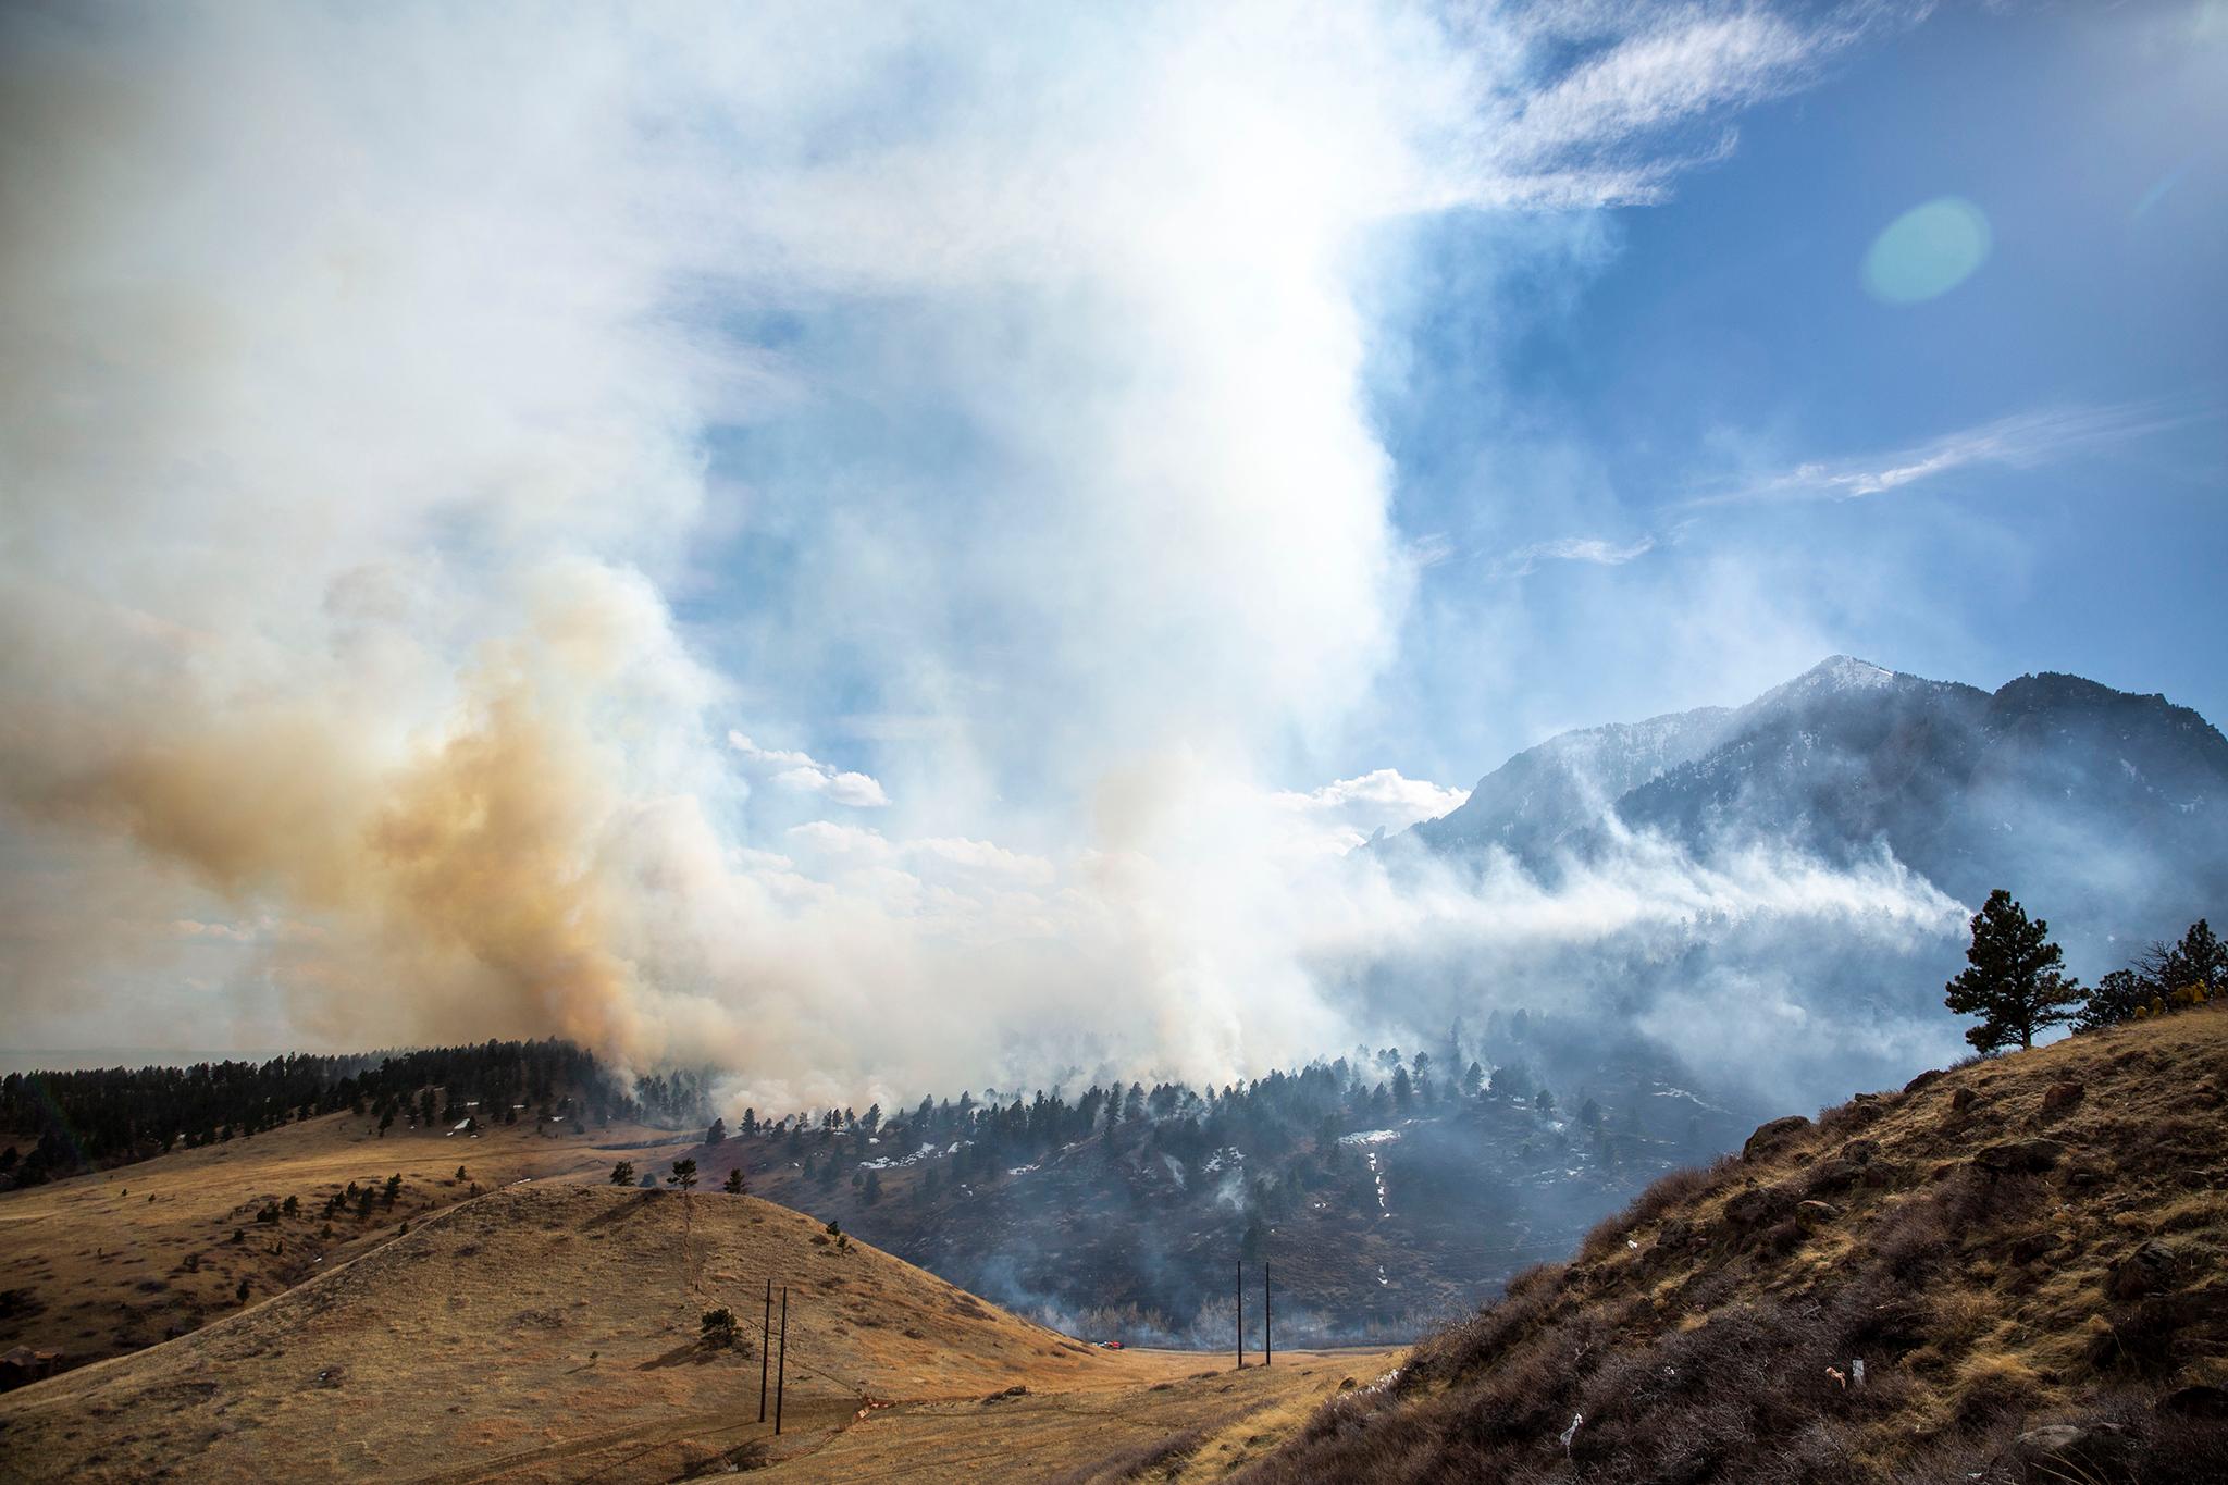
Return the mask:
{"type": "Polygon", "coordinates": [[[2221,410],[2217,405],[2190,399],[2157,399],[2103,407],[2043,407],[1943,434],[1914,448],[1863,459],[1805,461],[1791,470],[1736,481],[1729,488],[1689,501],[1689,505],[1856,501],[1970,468],[2036,470],[2219,416],[2221,410]]]}

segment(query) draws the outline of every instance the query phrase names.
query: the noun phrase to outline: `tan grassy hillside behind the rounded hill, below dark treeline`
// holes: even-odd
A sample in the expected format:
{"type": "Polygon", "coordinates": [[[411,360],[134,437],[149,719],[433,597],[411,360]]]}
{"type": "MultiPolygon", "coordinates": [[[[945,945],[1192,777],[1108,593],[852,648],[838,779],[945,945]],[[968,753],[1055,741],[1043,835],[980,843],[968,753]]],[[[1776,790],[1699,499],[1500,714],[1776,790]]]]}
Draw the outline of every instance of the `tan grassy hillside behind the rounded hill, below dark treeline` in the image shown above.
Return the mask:
{"type": "Polygon", "coordinates": [[[637,1124],[573,1135],[561,1124],[495,1124],[479,1138],[332,1113],[201,1149],[178,1149],[0,1196],[0,1349],[62,1351],[67,1365],[120,1356],[270,1298],[385,1242],[410,1220],[517,1180],[602,1180],[615,1160],[648,1167],[686,1140],[637,1124]],[[463,1167],[463,1180],[457,1178],[463,1167]],[[394,1204],[385,1182],[401,1176],[394,1204]],[[325,1218],[350,1182],[370,1213],[325,1218]],[[285,1198],[296,1211],[285,1213],[285,1198]],[[278,1220],[256,1213],[281,1207],[278,1220]],[[234,1233],[241,1233],[234,1240],[234,1233]]]}

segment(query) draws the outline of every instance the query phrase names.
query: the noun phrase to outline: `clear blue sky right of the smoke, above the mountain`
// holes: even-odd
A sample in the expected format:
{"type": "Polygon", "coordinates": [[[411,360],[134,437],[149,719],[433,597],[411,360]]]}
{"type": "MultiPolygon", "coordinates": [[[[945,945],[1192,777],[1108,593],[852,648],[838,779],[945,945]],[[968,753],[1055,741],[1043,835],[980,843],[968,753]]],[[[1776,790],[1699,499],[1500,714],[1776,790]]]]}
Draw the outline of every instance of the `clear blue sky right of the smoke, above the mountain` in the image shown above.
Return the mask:
{"type": "Polygon", "coordinates": [[[1740,701],[1800,655],[1787,639],[2228,712],[2221,24],[2186,4],[1943,7],[1747,111],[1660,203],[1421,225],[1428,287],[1408,289],[1375,410],[1401,530],[1450,557],[1424,574],[1372,741],[1459,777],[1555,726],[1740,701]],[[1880,303],[1867,247],[1941,196],[1985,214],[1992,252],[1938,298],[1880,303]],[[2085,416],[2097,436],[2052,448],[2085,416]],[[1691,505],[1814,461],[1894,468],[2005,419],[2041,421],[2032,459],[1691,505]],[[1555,541],[1597,561],[1508,572],[1555,541]],[[1745,588],[1729,626],[1667,628],[1713,570],[1745,588]],[[1522,661],[1464,686],[1508,635],[1522,661]]]}

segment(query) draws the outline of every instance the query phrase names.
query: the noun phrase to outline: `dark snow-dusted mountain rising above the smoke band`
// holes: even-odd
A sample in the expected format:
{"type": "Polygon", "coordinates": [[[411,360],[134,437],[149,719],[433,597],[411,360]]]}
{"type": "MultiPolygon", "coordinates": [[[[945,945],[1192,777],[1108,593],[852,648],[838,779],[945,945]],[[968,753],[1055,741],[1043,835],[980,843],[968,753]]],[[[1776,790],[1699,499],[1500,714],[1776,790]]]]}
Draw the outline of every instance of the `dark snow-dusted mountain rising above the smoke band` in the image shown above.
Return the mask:
{"type": "Polygon", "coordinates": [[[1626,830],[1698,857],[1885,846],[1961,902],[2010,886],[2097,966],[2228,906],[2224,826],[2228,739],[2166,697],[2072,675],[1990,695],[1836,655],[1738,710],[1553,737],[1388,846],[1499,848],[1544,879],[1626,830]]]}

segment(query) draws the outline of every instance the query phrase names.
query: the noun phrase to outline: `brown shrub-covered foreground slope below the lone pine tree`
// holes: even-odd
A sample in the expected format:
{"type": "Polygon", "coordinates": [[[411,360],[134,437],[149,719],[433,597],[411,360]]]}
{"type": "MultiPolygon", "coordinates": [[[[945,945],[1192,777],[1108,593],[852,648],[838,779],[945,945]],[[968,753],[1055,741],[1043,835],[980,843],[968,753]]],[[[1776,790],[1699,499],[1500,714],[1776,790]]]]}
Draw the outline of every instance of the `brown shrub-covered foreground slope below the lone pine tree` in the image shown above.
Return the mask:
{"type": "Polygon", "coordinates": [[[1778,1120],[1243,1478],[2224,1481],[2224,1009],[1778,1120]]]}

